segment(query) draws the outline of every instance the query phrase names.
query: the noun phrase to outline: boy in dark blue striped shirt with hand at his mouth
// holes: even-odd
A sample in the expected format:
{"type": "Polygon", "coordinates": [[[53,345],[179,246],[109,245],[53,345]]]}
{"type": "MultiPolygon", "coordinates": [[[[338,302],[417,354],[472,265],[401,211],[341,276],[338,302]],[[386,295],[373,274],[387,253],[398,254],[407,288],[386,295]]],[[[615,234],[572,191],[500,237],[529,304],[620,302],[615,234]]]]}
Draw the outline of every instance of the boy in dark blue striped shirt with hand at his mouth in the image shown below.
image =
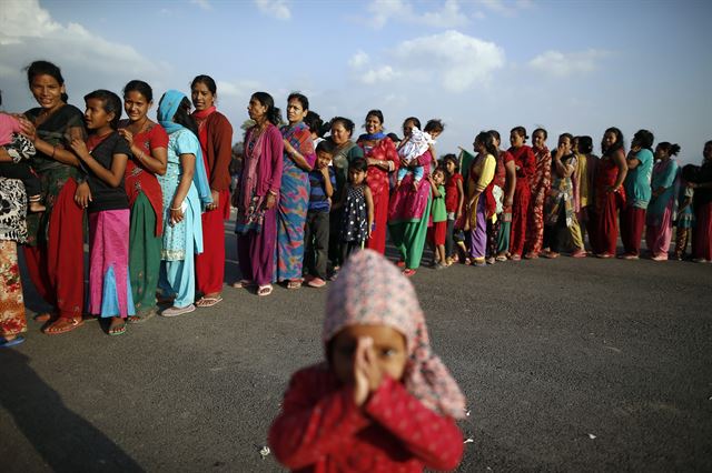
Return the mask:
{"type": "Polygon", "coordinates": [[[336,188],[336,173],[332,164],[334,149],[329,141],[316,147],[316,165],[309,172],[309,208],[304,229],[305,283],[310,288],[326,285],[326,263],[329,248],[329,212],[336,188]]]}

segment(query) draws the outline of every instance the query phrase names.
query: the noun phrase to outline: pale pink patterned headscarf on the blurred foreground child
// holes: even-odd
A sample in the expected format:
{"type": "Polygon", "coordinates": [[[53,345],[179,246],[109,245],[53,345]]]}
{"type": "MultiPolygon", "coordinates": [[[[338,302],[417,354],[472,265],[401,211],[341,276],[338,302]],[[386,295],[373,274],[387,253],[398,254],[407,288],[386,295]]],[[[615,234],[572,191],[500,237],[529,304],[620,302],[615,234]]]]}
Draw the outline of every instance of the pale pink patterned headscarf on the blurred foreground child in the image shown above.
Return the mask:
{"type": "Polygon", "coordinates": [[[403,379],[406,390],[441,415],[465,416],[465,396],[433,353],[415,288],[396,266],[372,250],[352,255],[332,285],[326,301],[324,345],[350,325],[387,325],[403,333],[408,350],[403,379]],[[384,291],[384,286],[388,290],[384,291]]]}

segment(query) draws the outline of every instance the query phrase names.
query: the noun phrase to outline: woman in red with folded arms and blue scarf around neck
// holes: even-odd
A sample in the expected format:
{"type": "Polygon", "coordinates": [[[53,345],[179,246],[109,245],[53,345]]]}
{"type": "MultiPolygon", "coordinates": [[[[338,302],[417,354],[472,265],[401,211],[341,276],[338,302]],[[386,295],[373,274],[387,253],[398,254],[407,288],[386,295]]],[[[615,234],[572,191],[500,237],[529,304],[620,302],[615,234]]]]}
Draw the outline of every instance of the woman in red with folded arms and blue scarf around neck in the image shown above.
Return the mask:
{"type": "Polygon", "coordinates": [[[383,132],[383,113],[372,110],[366,114],[366,133],[358,137],[357,144],[364,150],[368,162],[366,180],[374,198],[374,229],[367,248],[386,252],[386,222],[388,220],[388,174],[398,169],[396,147],[383,132]]]}

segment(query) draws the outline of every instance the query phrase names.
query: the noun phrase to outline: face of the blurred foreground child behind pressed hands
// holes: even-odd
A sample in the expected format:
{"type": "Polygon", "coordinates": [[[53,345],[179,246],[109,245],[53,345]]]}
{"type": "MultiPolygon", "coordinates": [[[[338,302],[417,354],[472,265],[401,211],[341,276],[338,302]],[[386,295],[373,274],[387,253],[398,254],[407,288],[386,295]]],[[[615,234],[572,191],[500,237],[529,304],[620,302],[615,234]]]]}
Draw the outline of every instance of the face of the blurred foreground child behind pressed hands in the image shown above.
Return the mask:
{"type": "Polygon", "coordinates": [[[405,336],[386,325],[352,325],[342,330],[332,341],[332,369],[345,384],[354,381],[354,355],[358,339],[370,338],[374,359],[382,374],[399,381],[408,359],[405,336]]]}

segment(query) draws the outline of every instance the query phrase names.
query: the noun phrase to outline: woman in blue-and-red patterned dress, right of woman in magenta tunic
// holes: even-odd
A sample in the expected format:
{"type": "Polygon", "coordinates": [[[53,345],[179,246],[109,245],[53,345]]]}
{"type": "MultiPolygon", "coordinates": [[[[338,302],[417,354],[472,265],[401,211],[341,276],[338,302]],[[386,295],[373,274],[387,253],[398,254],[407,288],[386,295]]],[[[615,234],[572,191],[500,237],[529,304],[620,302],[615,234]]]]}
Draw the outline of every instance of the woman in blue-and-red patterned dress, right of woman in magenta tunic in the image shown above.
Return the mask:
{"type": "Polygon", "coordinates": [[[309,127],[304,118],[309,100],[300,93],[287,99],[289,124],[281,128],[285,142],[283,155],[281,191],[277,209],[277,250],[275,251],[275,280],[286,282],[288,289],[301,285],[304,261],[304,223],[309,207],[309,171],[316,154],[309,127]]]}

